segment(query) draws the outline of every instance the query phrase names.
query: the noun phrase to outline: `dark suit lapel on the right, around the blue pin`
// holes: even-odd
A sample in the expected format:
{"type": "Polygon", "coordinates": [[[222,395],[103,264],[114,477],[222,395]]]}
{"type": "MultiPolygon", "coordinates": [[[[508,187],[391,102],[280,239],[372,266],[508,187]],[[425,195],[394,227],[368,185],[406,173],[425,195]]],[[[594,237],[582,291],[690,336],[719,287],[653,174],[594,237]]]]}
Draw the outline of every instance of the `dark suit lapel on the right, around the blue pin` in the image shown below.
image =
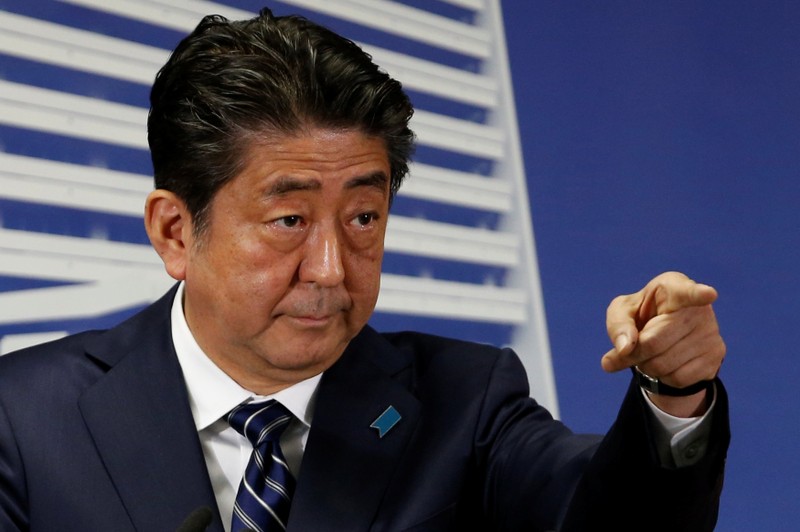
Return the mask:
{"type": "Polygon", "coordinates": [[[405,357],[367,328],[325,373],[290,531],[369,528],[419,418],[419,402],[401,382],[407,369],[405,357]],[[379,423],[388,428],[381,437],[370,425],[389,407],[401,419],[379,423]]]}

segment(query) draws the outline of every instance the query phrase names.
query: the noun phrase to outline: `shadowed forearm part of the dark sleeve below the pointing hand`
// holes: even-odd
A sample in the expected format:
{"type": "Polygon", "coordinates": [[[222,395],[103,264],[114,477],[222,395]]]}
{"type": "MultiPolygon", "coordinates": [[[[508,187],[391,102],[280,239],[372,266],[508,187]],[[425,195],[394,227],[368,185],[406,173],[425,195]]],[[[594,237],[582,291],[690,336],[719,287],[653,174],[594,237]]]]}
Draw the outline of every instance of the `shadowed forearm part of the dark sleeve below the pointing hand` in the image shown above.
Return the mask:
{"type": "Polygon", "coordinates": [[[730,442],[725,388],[717,381],[709,447],[691,466],[661,465],[646,409],[631,383],[617,420],[577,486],[562,531],[714,529],[730,442]]]}

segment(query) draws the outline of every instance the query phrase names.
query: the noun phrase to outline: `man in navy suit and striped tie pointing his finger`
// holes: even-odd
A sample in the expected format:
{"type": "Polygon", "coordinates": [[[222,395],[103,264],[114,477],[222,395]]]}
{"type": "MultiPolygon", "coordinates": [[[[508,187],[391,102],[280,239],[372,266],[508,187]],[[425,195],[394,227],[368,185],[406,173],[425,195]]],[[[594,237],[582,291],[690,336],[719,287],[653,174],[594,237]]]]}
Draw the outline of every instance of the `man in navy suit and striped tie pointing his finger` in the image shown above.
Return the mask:
{"type": "Polygon", "coordinates": [[[207,17],[151,104],[145,224],[180,282],[0,359],[0,529],[714,527],[712,288],[667,273],[612,302],[602,364],[637,378],[604,438],[575,435],[511,351],[366,325],[412,108],[353,43],[267,10],[207,17]],[[234,428],[252,404],[281,412],[269,452],[239,433],[255,417],[234,428]]]}

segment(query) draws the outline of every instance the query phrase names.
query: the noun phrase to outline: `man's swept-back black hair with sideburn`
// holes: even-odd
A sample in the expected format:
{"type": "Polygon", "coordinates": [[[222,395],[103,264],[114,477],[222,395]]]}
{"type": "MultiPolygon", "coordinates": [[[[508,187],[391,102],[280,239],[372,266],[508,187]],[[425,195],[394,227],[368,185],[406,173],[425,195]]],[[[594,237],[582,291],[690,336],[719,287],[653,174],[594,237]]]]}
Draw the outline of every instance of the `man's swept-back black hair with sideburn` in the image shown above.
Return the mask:
{"type": "Polygon", "coordinates": [[[408,173],[412,114],[401,84],[331,30],[266,8],[244,21],[209,15],[180,42],[150,93],[155,186],[185,202],[199,234],[256,135],[323,127],[383,140],[391,198],[408,173]]]}

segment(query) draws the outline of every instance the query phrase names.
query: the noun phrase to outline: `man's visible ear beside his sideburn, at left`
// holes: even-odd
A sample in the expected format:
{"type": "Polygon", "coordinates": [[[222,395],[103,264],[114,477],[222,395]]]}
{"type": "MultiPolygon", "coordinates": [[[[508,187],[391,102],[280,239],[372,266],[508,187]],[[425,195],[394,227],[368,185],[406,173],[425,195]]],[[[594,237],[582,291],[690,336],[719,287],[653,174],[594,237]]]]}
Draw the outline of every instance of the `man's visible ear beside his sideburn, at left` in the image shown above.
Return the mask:
{"type": "Polygon", "coordinates": [[[192,219],[186,204],[172,192],[156,189],[147,196],[144,225],[167,273],[178,281],[184,280],[193,243],[192,219]]]}

